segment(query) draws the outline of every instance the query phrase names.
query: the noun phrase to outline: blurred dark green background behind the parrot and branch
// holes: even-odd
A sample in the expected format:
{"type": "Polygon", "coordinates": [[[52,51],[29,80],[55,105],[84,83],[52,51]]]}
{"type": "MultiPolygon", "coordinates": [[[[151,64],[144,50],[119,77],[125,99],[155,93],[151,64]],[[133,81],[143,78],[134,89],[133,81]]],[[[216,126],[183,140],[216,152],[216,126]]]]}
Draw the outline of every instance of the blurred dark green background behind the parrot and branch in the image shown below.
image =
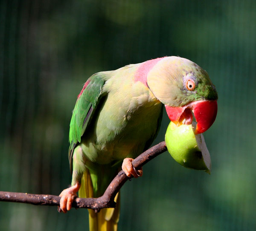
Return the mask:
{"type": "MultiPolygon", "coordinates": [[[[71,182],[71,113],[90,75],[176,55],[210,75],[212,174],[163,153],[121,190],[119,230],[256,230],[256,1],[1,0],[0,191],[71,182]]],[[[164,114],[154,144],[164,140],[164,114]]],[[[87,211],[0,202],[0,230],[87,230],[87,211]]]]}

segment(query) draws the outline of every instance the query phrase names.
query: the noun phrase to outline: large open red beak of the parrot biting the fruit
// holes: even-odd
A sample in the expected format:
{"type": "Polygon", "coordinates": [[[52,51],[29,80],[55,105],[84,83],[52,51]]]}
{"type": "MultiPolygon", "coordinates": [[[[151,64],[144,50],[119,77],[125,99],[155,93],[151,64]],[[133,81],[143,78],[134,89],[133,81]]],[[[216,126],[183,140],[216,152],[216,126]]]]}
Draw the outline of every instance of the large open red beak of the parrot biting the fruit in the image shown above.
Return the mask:
{"type": "Polygon", "coordinates": [[[171,121],[176,124],[192,124],[194,113],[197,126],[195,133],[204,133],[212,126],[217,116],[217,101],[195,101],[183,107],[169,107],[165,105],[166,112],[171,121]]]}

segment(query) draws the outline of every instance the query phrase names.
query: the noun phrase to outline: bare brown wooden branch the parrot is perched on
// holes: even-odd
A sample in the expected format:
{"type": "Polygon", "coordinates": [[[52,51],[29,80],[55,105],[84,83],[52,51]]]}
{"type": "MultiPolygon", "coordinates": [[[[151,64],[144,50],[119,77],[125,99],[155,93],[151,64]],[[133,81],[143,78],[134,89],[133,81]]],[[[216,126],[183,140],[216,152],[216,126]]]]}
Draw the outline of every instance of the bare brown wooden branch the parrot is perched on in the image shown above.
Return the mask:
{"type": "MultiPolygon", "coordinates": [[[[133,166],[140,169],[143,165],[149,162],[154,157],[160,155],[167,150],[165,142],[149,148],[132,162],[133,166]]],[[[79,198],[77,197],[73,204],[73,208],[91,208],[98,212],[102,208],[114,208],[114,198],[116,193],[129,178],[121,170],[116,177],[112,180],[105,193],[98,198],[79,198]]],[[[32,205],[60,205],[60,196],[47,195],[47,194],[29,194],[29,193],[14,193],[0,191],[0,201],[6,202],[21,202],[32,205]]]]}

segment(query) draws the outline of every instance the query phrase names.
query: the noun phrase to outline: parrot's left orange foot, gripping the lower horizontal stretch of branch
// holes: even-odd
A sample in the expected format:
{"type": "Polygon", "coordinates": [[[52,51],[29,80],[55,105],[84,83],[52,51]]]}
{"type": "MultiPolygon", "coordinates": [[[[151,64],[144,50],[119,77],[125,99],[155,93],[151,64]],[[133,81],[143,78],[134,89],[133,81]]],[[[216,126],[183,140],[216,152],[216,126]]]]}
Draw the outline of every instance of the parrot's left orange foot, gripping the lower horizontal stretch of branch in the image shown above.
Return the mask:
{"type": "Polygon", "coordinates": [[[76,193],[80,188],[79,182],[76,182],[76,185],[71,186],[70,188],[64,189],[59,196],[61,196],[60,206],[58,206],[58,211],[61,213],[67,213],[72,208],[72,202],[77,197],[76,193]]]}

